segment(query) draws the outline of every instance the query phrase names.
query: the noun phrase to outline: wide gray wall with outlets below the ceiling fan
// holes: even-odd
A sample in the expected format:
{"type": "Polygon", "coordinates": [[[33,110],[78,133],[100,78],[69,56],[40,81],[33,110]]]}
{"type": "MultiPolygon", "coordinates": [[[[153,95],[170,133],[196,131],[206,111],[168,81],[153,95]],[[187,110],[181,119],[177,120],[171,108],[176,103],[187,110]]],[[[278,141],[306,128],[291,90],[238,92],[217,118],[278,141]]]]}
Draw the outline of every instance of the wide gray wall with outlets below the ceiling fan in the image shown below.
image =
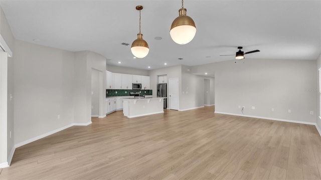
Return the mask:
{"type": "Polygon", "coordinates": [[[315,60],[245,59],[193,67],[215,72],[215,111],[314,123],[315,60]],[[255,106],[255,109],[251,109],[255,106]],[[272,108],[274,111],[272,111],[272,108]],[[288,109],[291,112],[288,112],[288,109]]]}

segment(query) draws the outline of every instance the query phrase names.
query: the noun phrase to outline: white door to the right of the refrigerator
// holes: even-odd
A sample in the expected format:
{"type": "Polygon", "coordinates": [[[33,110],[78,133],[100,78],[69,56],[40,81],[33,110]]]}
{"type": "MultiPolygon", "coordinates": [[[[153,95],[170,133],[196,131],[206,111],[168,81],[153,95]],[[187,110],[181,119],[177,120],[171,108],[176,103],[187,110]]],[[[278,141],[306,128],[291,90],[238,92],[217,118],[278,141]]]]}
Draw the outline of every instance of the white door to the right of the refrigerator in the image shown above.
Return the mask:
{"type": "Polygon", "coordinates": [[[170,91],[170,109],[178,110],[180,107],[178,77],[169,79],[169,91],[170,91]]]}

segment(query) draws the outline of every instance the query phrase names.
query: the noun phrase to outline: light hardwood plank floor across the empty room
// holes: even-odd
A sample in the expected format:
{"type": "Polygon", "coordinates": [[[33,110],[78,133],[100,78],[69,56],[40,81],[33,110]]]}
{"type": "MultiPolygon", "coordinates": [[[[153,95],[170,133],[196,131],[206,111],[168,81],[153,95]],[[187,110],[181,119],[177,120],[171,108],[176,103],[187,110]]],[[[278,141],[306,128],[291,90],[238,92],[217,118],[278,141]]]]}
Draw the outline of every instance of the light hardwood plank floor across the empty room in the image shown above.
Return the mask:
{"type": "Polygon", "coordinates": [[[313,125],[214,106],[92,122],[17,148],[0,179],[321,179],[313,125]]]}

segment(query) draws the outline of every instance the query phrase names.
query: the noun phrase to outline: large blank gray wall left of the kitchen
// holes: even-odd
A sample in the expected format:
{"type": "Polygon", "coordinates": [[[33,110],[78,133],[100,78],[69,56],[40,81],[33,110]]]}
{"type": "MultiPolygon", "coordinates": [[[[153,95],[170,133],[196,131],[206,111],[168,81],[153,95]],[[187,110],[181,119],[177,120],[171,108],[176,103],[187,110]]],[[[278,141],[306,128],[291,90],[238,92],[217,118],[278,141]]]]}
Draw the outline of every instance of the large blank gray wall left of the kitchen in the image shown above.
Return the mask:
{"type": "Polygon", "coordinates": [[[16,40],[14,56],[15,144],[72,124],[74,52],[16,40]]]}

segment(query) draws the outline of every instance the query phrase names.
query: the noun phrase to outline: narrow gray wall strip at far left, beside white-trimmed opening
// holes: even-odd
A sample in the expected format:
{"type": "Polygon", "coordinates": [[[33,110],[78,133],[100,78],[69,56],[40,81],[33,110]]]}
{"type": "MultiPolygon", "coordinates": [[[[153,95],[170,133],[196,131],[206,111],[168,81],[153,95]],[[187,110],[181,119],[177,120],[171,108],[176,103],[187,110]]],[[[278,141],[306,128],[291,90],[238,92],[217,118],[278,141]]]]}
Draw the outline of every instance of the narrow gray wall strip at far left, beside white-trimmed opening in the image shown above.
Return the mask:
{"type": "MultiPolygon", "coordinates": [[[[12,34],[7,18],[0,4],[0,34],[5,39],[13,57],[8,57],[8,103],[7,103],[7,159],[10,164],[14,148],[14,61],[15,61],[15,38],[12,34]],[[12,98],[10,98],[12,97],[12,98]]],[[[5,143],[5,142],[3,142],[5,143]]],[[[0,161],[0,164],[2,162],[0,161]]]]}

